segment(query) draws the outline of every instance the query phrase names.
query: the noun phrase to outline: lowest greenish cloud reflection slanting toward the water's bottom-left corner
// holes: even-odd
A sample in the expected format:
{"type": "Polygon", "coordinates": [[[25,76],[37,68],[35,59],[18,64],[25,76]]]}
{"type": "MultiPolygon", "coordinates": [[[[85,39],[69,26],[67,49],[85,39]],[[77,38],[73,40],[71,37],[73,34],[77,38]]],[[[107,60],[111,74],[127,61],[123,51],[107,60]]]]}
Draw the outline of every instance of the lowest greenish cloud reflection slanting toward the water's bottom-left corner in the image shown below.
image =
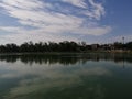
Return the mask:
{"type": "Polygon", "coordinates": [[[28,96],[30,94],[45,94],[51,91],[53,88],[58,88],[58,90],[72,87],[73,85],[79,84],[78,80],[75,79],[31,79],[31,80],[22,80],[21,84],[12,88],[9,97],[11,99],[19,96],[28,96]],[[76,82],[76,84],[75,84],[76,82]]]}

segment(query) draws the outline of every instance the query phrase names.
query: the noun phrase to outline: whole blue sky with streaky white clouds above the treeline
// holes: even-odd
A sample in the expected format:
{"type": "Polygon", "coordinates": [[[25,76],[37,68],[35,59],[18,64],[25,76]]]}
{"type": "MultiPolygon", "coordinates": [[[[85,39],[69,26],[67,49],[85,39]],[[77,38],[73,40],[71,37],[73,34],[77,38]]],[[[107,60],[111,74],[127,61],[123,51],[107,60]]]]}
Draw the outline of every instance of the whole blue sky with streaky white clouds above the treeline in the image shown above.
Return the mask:
{"type": "Polygon", "coordinates": [[[132,41],[132,0],[0,0],[0,44],[132,41]]]}

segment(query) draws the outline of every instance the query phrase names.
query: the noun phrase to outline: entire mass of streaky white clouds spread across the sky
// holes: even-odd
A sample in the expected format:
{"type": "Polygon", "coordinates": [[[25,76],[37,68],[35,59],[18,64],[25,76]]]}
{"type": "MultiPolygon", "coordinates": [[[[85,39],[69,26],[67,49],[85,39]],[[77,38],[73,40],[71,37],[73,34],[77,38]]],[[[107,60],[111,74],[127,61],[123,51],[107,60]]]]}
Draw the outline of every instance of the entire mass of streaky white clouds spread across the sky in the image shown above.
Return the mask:
{"type": "MultiPolygon", "coordinates": [[[[31,41],[63,41],[75,40],[76,37],[67,35],[102,35],[111,31],[110,26],[99,25],[96,20],[100,20],[105,15],[105,8],[101,3],[89,0],[89,4],[85,0],[61,0],[73,6],[82,8],[76,14],[62,13],[63,6],[59,11],[48,0],[1,0],[2,8],[7,15],[15,18],[20,26],[0,26],[6,32],[16,32],[18,34],[3,35],[10,42],[31,41]],[[90,9],[91,8],[91,9],[90,9]],[[77,15],[78,14],[78,15],[77,15]],[[81,16],[80,16],[81,15],[81,16]],[[91,19],[91,20],[90,20],[91,19]],[[94,20],[95,19],[95,20],[94,20]],[[94,21],[94,22],[92,22],[94,21]],[[90,24],[94,23],[94,24],[90,24]],[[30,26],[31,30],[28,30],[30,26]],[[34,29],[35,28],[35,29],[34,29]]],[[[69,7],[67,7],[68,9],[69,7]]],[[[78,10],[77,8],[73,10],[78,10]]],[[[65,11],[65,10],[64,10],[65,11]]],[[[72,11],[70,11],[72,12],[72,11]]]]}

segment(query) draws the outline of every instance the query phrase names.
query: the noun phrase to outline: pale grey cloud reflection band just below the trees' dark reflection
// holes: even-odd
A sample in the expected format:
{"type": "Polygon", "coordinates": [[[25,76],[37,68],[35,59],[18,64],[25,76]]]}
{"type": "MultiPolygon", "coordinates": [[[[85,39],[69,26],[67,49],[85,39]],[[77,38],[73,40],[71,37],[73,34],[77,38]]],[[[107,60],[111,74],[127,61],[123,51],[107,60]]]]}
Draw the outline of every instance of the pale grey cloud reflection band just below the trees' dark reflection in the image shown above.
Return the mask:
{"type": "MultiPolygon", "coordinates": [[[[76,75],[87,75],[87,76],[102,76],[102,75],[110,75],[110,72],[102,67],[87,67],[81,68],[76,66],[75,67],[66,67],[62,66],[59,63],[50,64],[32,64],[32,67],[29,65],[23,64],[22,62],[16,62],[15,64],[3,64],[4,70],[7,74],[1,74],[1,78],[19,78],[26,75],[33,75],[38,77],[45,78],[63,78],[63,77],[76,77],[76,75]],[[10,66],[9,66],[10,65],[10,66]],[[70,68],[75,68],[72,69],[70,68]]],[[[95,64],[96,65],[96,64],[95,64]]]]}

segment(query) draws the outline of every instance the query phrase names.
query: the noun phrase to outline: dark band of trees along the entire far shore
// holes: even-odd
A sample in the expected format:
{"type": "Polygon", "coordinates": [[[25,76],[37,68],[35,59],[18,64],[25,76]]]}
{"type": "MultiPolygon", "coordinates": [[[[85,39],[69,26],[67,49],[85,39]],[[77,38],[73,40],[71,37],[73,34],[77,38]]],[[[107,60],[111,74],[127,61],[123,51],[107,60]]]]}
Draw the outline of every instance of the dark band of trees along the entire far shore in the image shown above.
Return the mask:
{"type": "Polygon", "coordinates": [[[129,43],[119,43],[114,44],[91,44],[88,45],[85,42],[48,42],[48,43],[33,43],[26,42],[21,45],[16,44],[6,44],[0,45],[0,53],[32,53],[32,52],[88,52],[88,51],[113,51],[113,50],[123,50],[132,51],[132,42],[129,43]]]}

